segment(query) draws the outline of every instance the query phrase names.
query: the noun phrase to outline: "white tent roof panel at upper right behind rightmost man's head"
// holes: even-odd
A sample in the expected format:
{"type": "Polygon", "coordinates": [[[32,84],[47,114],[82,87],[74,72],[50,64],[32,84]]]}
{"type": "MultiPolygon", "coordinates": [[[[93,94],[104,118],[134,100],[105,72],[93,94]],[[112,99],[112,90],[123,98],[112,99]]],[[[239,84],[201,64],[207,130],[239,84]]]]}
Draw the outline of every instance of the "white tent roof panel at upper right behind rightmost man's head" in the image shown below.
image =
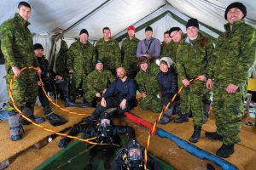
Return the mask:
{"type": "MultiPolygon", "coordinates": [[[[227,22],[224,20],[224,9],[236,0],[167,0],[173,7],[177,8],[181,13],[188,15],[191,18],[196,18],[207,26],[212,26],[218,31],[224,31],[223,25],[227,22]],[[212,5],[211,5],[212,3],[212,5]],[[216,5],[219,8],[217,8],[216,5]]],[[[256,26],[256,1],[240,0],[247,7],[247,18],[254,20],[249,23],[256,26]]]]}

